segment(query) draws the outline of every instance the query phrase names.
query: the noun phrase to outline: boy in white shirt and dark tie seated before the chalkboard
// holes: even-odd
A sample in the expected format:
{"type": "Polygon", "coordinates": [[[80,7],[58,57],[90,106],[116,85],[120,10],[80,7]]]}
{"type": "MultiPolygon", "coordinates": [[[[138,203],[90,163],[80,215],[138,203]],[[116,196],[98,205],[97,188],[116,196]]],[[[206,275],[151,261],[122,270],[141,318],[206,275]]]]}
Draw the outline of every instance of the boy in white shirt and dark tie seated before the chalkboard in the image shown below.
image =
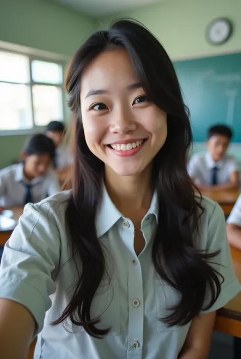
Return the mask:
{"type": "Polygon", "coordinates": [[[232,139],[228,126],[216,125],[207,132],[208,152],[195,154],[188,165],[189,175],[200,190],[238,189],[238,168],[233,156],[227,155],[232,139]]]}

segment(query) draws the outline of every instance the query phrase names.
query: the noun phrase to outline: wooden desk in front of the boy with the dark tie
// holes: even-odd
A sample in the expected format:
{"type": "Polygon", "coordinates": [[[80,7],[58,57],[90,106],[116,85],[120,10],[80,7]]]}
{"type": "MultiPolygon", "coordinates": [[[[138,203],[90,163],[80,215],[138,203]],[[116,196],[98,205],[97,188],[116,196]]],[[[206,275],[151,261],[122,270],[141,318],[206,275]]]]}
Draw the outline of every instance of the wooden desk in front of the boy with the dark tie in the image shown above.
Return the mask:
{"type": "Polygon", "coordinates": [[[230,191],[202,191],[202,195],[219,203],[224,214],[228,216],[240,194],[240,190],[230,191]]]}

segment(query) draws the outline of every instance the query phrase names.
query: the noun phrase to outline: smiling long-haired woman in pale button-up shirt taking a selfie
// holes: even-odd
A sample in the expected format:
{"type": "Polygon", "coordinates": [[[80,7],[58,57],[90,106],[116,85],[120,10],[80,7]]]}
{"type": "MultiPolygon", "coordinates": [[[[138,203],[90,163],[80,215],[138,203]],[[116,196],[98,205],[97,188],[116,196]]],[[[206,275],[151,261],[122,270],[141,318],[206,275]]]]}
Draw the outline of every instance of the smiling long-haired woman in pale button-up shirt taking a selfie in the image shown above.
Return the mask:
{"type": "Polygon", "coordinates": [[[39,334],[35,359],[207,359],[216,310],[240,285],[222,209],[187,173],[170,59],[119,20],[77,51],[67,91],[73,190],[26,206],[5,246],[2,356],[25,359],[39,334]]]}

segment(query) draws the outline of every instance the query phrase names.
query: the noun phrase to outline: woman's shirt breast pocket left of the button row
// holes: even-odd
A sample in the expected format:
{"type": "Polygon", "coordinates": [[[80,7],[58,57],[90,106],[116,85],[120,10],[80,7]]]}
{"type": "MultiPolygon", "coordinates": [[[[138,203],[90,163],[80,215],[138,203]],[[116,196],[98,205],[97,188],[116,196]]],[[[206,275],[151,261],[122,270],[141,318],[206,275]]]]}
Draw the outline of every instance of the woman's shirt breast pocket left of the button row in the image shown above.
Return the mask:
{"type": "Polygon", "coordinates": [[[102,281],[91,305],[91,318],[100,317],[99,329],[111,328],[108,335],[119,335],[120,303],[118,281],[102,281]]]}

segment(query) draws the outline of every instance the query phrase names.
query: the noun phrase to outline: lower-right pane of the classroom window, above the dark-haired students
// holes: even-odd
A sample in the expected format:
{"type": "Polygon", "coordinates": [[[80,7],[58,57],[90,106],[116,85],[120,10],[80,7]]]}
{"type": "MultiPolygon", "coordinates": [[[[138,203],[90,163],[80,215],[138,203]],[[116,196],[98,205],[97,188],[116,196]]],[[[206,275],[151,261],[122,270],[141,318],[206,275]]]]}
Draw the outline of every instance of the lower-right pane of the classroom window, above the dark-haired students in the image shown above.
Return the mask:
{"type": "Polygon", "coordinates": [[[60,88],[34,85],[33,103],[37,126],[46,126],[52,120],[63,118],[62,90],[60,88]]]}

